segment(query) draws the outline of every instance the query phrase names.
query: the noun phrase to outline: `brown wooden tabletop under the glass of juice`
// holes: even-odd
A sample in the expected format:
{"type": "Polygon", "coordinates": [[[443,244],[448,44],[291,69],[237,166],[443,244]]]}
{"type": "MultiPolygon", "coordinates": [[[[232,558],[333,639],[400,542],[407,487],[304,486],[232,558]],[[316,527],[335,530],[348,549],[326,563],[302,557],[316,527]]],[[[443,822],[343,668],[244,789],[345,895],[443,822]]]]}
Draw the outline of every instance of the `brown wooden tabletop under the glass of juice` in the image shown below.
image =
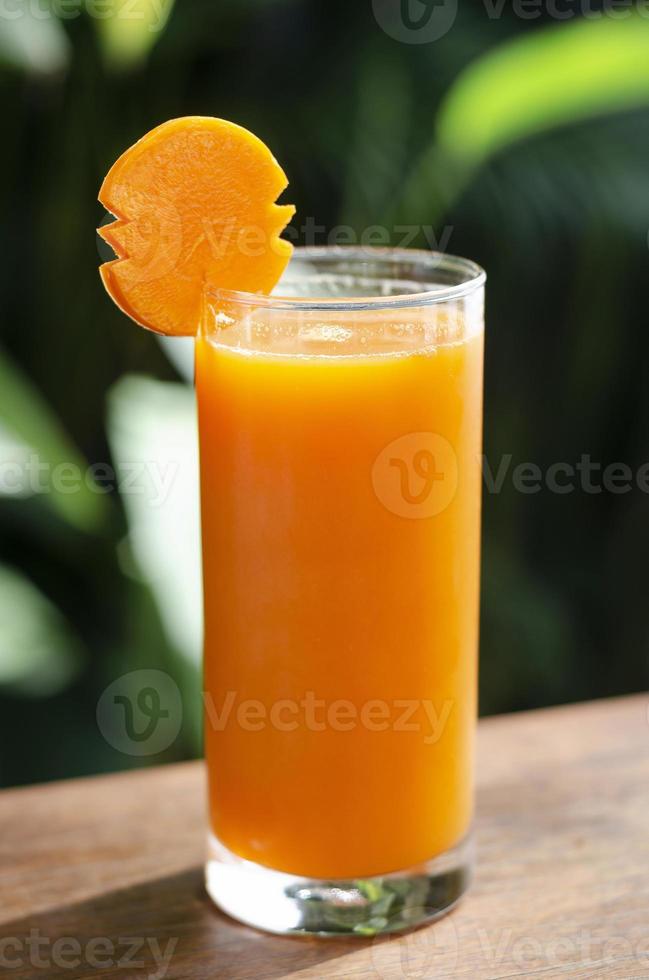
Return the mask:
{"type": "Polygon", "coordinates": [[[648,708],[481,722],[475,884],[385,939],[279,938],[220,915],[202,888],[200,763],[5,790],[0,975],[649,978],[648,708]]]}

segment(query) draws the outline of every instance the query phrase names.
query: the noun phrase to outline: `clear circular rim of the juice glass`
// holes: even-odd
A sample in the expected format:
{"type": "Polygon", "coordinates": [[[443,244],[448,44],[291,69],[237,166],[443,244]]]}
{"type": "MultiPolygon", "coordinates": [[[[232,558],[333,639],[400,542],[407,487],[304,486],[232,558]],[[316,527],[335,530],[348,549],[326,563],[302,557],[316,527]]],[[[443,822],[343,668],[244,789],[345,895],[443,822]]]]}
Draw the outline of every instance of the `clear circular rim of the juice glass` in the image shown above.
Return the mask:
{"type": "MultiPolygon", "coordinates": [[[[422,269],[431,271],[444,269],[447,272],[455,272],[458,275],[463,275],[464,278],[453,285],[440,283],[439,286],[431,287],[430,283],[426,283],[426,288],[421,291],[391,296],[370,295],[348,298],[345,296],[309,298],[306,296],[282,296],[281,294],[267,296],[263,293],[239,292],[237,290],[219,289],[216,286],[209,285],[206,288],[205,296],[208,300],[212,298],[228,304],[238,303],[245,306],[263,307],[273,310],[304,313],[327,311],[355,312],[357,310],[403,309],[448,303],[469,296],[481,289],[487,281],[485,270],[471,259],[464,259],[458,255],[450,255],[447,252],[435,252],[427,249],[377,248],[363,245],[303,246],[294,248],[292,259],[294,258],[311,261],[339,259],[341,261],[357,262],[359,265],[363,262],[383,262],[386,266],[390,262],[410,262],[419,265],[422,269]]],[[[384,278],[389,277],[386,275],[384,278]]]]}

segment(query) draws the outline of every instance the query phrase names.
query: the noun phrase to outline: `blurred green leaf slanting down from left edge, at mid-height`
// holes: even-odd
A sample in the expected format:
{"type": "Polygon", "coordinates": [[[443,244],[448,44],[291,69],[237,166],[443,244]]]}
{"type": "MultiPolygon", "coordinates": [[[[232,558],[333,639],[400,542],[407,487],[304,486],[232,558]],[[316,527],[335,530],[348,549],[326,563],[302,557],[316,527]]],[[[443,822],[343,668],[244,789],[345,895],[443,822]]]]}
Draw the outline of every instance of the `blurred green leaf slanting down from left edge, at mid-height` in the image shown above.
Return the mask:
{"type": "MultiPolygon", "coordinates": [[[[12,474],[9,493],[42,495],[60,517],[83,531],[101,523],[106,501],[89,475],[86,461],[40,392],[2,350],[0,446],[5,465],[20,468],[20,473],[12,474]],[[19,484],[18,492],[13,484],[19,484]]],[[[8,474],[3,475],[0,493],[7,494],[4,483],[8,474]]]]}

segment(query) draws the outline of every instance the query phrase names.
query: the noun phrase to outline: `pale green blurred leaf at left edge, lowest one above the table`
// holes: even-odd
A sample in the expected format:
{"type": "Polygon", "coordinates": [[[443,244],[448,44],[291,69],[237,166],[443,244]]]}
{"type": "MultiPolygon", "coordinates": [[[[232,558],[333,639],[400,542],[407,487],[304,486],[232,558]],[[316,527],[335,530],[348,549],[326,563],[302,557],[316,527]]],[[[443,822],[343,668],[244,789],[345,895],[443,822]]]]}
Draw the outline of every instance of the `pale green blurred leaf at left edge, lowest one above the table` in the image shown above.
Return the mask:
{"type": "Polygon", "coordinates": [[[0,565],[0,685],[46,697],[69,684],[81,661],[58,609],[22,574],[0,565]]]}

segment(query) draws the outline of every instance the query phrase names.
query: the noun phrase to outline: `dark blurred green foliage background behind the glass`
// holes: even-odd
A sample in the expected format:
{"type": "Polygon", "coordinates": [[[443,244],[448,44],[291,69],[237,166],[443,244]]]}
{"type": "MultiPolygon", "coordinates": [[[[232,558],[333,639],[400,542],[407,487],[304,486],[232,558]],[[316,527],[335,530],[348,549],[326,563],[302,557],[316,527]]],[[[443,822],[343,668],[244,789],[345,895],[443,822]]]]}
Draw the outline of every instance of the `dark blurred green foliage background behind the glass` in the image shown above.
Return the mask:
{"type": "Polygon", "coordinates": [[[431,43],[390,36],[380,0],[0,11],[0,783],[200,752],[186,351],[108,301],[94,234],[113,160],[189,113],[272,147],[298,236],[415,223],[489,272],[485,451],[510,468],[484,500],[483,712],[647,686],[647,493],[522,493],[511,471],[649,460],[649,10],[452,2],[431,43]],[[17,488],[36,464],[44,489],[17,488]],[[149,464],[177,469],[162,504],[149,464]],[[95,710],[142,667],[175,678],[184,724],[132,758],[95,710]]]}

